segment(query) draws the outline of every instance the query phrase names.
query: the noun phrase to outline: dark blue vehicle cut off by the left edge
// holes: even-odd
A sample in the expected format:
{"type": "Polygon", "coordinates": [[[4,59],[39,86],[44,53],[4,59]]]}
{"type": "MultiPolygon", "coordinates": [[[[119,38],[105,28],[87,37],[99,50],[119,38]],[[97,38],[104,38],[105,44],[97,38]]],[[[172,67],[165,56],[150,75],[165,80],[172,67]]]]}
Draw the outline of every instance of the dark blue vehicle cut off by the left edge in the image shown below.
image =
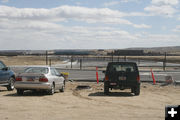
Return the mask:
{"type": "Polygon", "coordinates": [[[14,89],[15,74],[0,61],[0,85],[7,87],[9,91],[14,89]]]}

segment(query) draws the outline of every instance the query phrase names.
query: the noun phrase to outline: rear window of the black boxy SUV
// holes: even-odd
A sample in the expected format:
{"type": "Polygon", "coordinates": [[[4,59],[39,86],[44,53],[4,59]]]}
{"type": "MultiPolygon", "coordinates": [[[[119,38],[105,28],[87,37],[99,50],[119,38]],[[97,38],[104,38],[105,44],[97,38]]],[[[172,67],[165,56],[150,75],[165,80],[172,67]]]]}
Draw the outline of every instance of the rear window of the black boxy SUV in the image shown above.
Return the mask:
{"type": "Polygon", "coordinates": [[[136,66],[134,64],[114,64],[110,65],[109,71],[115,72],[135,72],[137,71],[136,66]]]}

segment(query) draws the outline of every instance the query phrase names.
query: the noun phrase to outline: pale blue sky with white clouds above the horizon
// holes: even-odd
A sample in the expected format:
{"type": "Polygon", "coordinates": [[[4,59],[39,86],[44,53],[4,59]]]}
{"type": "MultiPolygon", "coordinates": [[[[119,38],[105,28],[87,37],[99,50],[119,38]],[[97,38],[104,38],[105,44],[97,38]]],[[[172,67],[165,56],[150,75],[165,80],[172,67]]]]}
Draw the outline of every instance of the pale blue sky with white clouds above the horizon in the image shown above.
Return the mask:
{"type": "Polygon", "coordinates": [[[180,46],[180,0],[0,0],[0,50],[180,46]]]}

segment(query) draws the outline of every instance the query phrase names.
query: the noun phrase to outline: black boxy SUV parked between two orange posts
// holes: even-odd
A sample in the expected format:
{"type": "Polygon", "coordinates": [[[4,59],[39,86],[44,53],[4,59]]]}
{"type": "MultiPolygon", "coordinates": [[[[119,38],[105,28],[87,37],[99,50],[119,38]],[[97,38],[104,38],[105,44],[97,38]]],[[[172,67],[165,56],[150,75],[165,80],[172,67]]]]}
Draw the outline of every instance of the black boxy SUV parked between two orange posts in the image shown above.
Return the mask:
{"type": "Polygon", "coordinates": [[[131,89],[135,95],[140,94],[140,77],[134,62],[110,62],[106,68],[104,78],[104,93],[111,89],[131,89]]]}

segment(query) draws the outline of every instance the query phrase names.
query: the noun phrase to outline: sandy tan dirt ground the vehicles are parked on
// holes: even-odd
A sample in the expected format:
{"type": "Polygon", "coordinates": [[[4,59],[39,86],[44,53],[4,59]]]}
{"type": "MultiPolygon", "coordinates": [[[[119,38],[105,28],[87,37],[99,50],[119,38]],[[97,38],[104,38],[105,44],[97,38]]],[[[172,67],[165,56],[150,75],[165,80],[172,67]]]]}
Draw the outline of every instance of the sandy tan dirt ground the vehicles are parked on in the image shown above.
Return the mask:
{"type": "Polygon", "coordinates": [[[164,120],[165,106],[180,104],[180,86],[141,84],[140,96],[130,90],[103,94],[103,83],[67,82],[54,95],[0,87],[0,120],[164,120]],[[78,85],[89,85],[76,90],[78,85]]]}

